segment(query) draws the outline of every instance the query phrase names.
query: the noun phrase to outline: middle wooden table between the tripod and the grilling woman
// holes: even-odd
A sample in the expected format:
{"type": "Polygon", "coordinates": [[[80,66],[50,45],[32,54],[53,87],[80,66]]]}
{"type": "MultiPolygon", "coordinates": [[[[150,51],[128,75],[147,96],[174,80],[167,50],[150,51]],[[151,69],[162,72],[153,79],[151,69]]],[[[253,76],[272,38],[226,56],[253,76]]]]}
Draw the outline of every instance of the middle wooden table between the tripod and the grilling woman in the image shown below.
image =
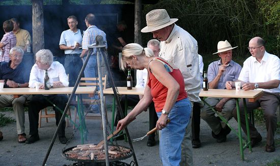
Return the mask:
{"type": "MultiPolygon", "coordinates": [[[[127,89],[127,87],[117,87],[117,92],[119,94],[124,94],[125,95],[125,113],[124,115],[127,115],[127,99],[126,95],[127,94],[133,94],[133,95],[139,95],[139,94],[144,94],[145,88],[136,88],[132,87],[132,89],[127,89]]],[[[103,94],[114,94],[113,88],[107,88],[103,90],[103,94]]],[[[114,131],[114,123],[115,123],[115,108],[116,108],[116,98],[115,96],[113,97],[113,108],[112,108],[112,120],[111,120],[111,130],[114,131]]],[[[113,139],[111,138],[111,142],[113,139]]],[[[125,137],[125,141],[127,141],[127,138],[125,137]]]]}

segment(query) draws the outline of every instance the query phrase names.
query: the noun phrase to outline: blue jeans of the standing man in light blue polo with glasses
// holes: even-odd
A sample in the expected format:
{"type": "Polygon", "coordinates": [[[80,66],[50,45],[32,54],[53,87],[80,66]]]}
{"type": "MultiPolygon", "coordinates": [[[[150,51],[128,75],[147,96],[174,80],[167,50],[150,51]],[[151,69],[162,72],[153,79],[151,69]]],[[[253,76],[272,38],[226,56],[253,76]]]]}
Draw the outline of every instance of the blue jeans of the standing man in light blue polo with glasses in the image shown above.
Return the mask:
{"type": "Polygon", "coordinates": [[[65,54],[64,68],[69,74],[69,86],[74,86],[82,67],[80,54],[65,54]]]}

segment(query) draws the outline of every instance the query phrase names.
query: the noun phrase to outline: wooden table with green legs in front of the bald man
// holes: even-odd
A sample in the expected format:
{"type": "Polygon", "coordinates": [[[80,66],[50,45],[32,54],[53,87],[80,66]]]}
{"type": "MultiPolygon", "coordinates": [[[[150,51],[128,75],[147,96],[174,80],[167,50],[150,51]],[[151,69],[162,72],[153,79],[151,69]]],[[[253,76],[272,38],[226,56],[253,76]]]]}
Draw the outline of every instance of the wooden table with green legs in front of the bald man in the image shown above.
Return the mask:
{"type": "Polygon", "coordinates": [[[244,160],[244,153],[243,151],[249,147],[249,151],[251,152],[251,139],[250,139],[250,132],[249,132],[249,122],[248,122],[248,116],[247,116],[247,107],[246,107],[246,100],[245,98],[248,98],[248,102],[256,102],[261,96],[263,95],[262,90],[240,90],[236,91],[234,90],[227,90],[227,89],[208,89],[207,91],[204,91],[203,89],[200,91],[199,96],[200,97],[232,97],[236,100],[236,110],[237,110],[237,121],[238,121],[238,132],[233,129],[228,121],[223,118],[216,110],[214,110],[207,102],[205,102],[204,99],[203,102],[212,109],[213,112],[215,112],[220,119],[227,123],[227,125],[235,132],[235,134],[239,137],[239,147],[240,147],[240,155],[241,159],[244,160]],[[244,103],[244,113],[245,113],[245,122],[246,122],[246,130],[247,130],[247,141],[244,140],[245,145],[243,146],[243,139],[242,139],[242,130],[241,130],[241,121],[240,121],[240,113],[239,113],[239,102],[238,98],[243,98],[244,103]]]}

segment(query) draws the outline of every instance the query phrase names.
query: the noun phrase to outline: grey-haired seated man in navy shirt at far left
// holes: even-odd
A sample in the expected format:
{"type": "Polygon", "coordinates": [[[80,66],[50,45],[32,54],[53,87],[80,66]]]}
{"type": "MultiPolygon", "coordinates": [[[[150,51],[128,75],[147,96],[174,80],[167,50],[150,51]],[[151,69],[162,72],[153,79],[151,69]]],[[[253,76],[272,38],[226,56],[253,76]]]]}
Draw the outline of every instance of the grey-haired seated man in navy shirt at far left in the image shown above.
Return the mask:
{"type": "MultiPolygon", "coordinates": [[[[29,78],[26,77],[30,71],[26,71],[26,67],[21,63],[23,58],[23,50],[20,47],[13,47],[10,50],[10,61],[2,62],[0,67],[0,82],[4,82],[4,88],[28,87],[29,78]]],[[[21,95],[17,98],[14,95],[0,95],[0,107],[13,105],[16,115],[16,128],[18,142],[24,143],[26,135],[24,133],[24,103],[31,95],[21,95]]],[[[1,134],[1,132],[0,132],[1,134]]],[[[3,137],[3,136],[2,136],[3,137]]],[[[0,136],[1,140],[1,136],[0,136]]]]}

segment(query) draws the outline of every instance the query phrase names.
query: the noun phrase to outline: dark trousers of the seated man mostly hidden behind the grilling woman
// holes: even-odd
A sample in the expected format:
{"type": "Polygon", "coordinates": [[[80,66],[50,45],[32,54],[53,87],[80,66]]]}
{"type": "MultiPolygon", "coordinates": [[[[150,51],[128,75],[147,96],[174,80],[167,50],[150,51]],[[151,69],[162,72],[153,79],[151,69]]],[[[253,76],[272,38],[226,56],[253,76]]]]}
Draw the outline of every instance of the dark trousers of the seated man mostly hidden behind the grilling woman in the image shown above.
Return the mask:
{"type": "MultiPolygon", "coordinates": [[[[126,100],[127,100],[127,106],[136,106],[139,102],[139,95],[126,95],[126,100]]],[[[125,95],[121,96],[121,108],[123,110],[123,113],[125,111],[125,95]]],[[[117,111],[116,114],[116,120],[115,120],[115,126],[117,126],[118,121],[120,120],[120,115],[117,111]]],[[[155,105],[154,102],[152,102],[149,106],[149,129],[153,129],[156,127],[156,122],[158,120],[157,114],[156,114],[156,110],[155,110],[155,105]]],[[[151,136],[155,136],[155,133],[153,133],[151,136]]]]}

